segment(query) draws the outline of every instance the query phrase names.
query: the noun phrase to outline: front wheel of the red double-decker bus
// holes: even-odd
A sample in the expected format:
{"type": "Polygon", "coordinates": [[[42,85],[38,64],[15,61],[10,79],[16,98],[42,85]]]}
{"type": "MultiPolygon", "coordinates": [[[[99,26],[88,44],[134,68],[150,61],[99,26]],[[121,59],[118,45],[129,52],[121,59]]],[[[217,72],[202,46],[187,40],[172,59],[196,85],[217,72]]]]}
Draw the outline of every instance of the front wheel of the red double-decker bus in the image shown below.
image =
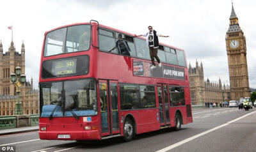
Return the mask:
{"type": "Polygon", "coordinates": [[[130,118],[126,118],[124,122],[124,141],[131,141],[134,134],[133,124],[130,118]]]}

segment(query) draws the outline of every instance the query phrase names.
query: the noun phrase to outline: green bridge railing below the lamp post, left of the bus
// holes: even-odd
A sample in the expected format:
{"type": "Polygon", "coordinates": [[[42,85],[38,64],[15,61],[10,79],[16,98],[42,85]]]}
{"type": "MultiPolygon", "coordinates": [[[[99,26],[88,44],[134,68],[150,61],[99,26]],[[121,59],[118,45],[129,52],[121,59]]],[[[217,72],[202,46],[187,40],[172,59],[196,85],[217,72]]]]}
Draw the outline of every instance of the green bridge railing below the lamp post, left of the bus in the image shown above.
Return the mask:
{"type": "MultiPolygon", "coordinates": [[[[29,119],[28,126],[38,125],[38,114],[25,115],[29,119]]],[[[8,128],[16,128],[20,124],[20,116],[0,116],[0,130],[8,128]]],[[[24,119],[22,120],[24,121],[24,119]]]]}

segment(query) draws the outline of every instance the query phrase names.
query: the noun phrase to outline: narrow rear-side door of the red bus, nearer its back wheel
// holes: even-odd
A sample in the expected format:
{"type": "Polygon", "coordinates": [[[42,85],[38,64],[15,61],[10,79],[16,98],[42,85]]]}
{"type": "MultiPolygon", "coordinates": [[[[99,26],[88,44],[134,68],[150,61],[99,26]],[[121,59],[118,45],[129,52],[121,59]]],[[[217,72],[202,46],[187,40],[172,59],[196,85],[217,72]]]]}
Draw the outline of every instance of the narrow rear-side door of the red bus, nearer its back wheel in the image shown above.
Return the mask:
{"type": "Polygon", "coordinates": [[[158,84],[157,94],[159,102],[159,118],[160,125],[170,124],[170,114],[169,114],[169,103],[168,103],[168,85],[158,84]]]}

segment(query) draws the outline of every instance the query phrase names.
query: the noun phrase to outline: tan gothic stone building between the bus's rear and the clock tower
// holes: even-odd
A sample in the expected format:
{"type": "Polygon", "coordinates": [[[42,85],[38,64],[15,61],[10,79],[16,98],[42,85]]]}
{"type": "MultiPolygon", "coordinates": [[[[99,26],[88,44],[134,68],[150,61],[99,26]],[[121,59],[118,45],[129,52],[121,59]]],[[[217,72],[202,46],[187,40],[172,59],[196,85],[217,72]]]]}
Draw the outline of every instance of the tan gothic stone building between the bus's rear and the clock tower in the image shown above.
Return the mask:
{"type": "Polygon", "coordinates": [[[230,100],[230,89],[225,84],[221,85],[219,82],[210,82],[209,79],[204,80],[204,67],[201,62],[198,66],[196,61],[196,67],[192,68],[189,63],[189,82],[191,92],[191,104],[203,105],[205,102],[222,103],[230,100]]]}

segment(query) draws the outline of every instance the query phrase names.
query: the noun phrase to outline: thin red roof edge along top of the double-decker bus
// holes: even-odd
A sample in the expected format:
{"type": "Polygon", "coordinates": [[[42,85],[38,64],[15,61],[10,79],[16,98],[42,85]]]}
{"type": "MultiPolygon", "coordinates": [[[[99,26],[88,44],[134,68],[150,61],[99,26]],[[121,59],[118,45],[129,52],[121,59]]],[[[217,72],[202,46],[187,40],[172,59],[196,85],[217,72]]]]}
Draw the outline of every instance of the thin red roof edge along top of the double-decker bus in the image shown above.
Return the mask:
{"type": "MultiPolygon", "coordinates": [[[[51,29],[51,30],[49,30],[49,31],[46,31],[46,32],[45,32],[45,35],[46,35],[47,33],[51,32],[51,31],[56,30],[56,29],[61,29],[61,28],[68,27],[68,26],[78,26],[78,25],[81,25],[81,24],[90,24],[90,22],[81,22],[81,23],[67,24],[67,25],[65,25],[65,26],[56,27],[56,28],[54,28],[54,29],[51,29]]],[[[99,24],[99,27],[103,27],[103,28],[105,28],[105,29],[110,29],[110,30],[117,31],[117,32],[120,32],[120,33],[124,33],[124,34],[128,34],[128,35],[131,35],[131,36],[135,36],[135,34],[127,33],[127,32],[122,31],[122,30],[120,30],[120,29],[115,29],[115,28],[113,28],[113,27],[104,26],[104,25],[102,25],[102,24],[99,24]]],[[[143,38],[143,37],[138,37],[138,38],[141,38],[141,39],[143,39],[143,40],[146,40],[146,38],[143,38]]],[[[166,47],[171,47],[172,49],[178,49],[178,50],[184,51],[184,49],[180,49],[180,48],[178,48],[178,47],[173,47],[172,45],[168,45],[168,44],[165,44],[165,43],[159,42],[159,44],[160,44],[160,45],[164,45],[164,46],[166,46],[166,47]]]]}

